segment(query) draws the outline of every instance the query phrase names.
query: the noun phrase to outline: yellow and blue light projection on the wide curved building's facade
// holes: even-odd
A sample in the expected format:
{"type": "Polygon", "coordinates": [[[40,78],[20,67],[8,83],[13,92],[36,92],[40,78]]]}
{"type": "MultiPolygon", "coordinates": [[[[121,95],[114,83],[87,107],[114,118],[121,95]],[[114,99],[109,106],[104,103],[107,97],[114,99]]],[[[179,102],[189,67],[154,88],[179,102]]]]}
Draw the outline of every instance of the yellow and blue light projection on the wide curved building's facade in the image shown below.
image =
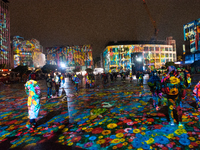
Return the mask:
{"type": "MultiPolygon", "coordinates": [[[[168,61],[176,59],[176,52],[172,45],[115,45],[107,46],[103,52],[103,63],[105,71],[110,68],[119,68],[123,70],[132,69],[134,61],[131,60],[134,53],[142,53],[143,70],[160,68],[168,61]]],[[[135,59],[135,58],[134,58],[135,59]]]]}

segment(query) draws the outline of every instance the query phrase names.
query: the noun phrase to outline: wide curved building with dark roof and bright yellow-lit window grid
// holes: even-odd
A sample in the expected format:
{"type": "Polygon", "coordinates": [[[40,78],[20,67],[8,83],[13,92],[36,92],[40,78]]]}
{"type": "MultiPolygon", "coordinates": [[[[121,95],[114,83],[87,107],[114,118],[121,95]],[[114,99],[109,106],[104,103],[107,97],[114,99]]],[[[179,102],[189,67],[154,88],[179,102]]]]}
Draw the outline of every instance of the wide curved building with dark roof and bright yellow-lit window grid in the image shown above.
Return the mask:
{"type": "Polygon", "coordinates": [[[110,42],[103,52],[103,65],[106,72],[111,67],[130,69],[133,73],[148,71],[161,68],[166,62],[175,61],[176,51],[173,45],[167,44],[167,41],[110,42]]]}

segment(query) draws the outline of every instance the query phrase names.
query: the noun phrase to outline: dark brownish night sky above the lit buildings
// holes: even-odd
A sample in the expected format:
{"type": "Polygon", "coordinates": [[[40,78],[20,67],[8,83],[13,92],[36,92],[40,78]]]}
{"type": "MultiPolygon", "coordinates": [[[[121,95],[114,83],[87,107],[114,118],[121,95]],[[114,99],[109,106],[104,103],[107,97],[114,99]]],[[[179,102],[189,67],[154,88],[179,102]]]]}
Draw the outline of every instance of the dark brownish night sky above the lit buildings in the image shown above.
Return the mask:
{"type": "MultiPolygon", "coordinates": [[[[146,0],[158,40],[173,36],[182,51],[183,24],[200,18],[200,0],[146,0]]],[[[109,41],[149,40],[154,27],[142,0],[10,0],[11,36],[44,47],[92,44],[99,56],[109,41]]]]}

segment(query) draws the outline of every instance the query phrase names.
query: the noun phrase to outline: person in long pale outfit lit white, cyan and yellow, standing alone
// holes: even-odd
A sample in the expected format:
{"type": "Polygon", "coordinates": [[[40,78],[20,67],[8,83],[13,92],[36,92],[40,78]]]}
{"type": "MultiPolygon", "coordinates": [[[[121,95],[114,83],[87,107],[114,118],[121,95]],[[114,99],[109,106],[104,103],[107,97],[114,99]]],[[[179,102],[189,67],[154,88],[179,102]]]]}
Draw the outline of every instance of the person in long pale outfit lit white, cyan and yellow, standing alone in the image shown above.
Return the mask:
{"type": "Polygon", "coordinates": [[[25,91],[28,95],[28,114],[29,114],[29,122],[26,124],[27,128],[34,129],[36,127],[36,121],[39,111],[40,111],[40,98],[41,91],[40,87],[35,81],[36,78],[33,76],[29,76],[29,80],[25,84],[25,91]]]}

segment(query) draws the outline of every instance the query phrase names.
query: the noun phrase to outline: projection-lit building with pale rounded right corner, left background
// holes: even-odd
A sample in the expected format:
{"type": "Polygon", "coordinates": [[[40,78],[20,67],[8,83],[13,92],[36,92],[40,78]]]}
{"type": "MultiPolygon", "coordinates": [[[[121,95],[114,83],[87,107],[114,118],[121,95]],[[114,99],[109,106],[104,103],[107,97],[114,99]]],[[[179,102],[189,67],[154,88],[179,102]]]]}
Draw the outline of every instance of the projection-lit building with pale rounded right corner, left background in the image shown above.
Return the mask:
{"type": "Polygon", "coordinates": [[[19,65],[28,67],[42,67],[45,65],[43,48],[36,39],[24,40],[23,37],[14,36],[12,40],[14,54],[14,67],[19,65]]]}

